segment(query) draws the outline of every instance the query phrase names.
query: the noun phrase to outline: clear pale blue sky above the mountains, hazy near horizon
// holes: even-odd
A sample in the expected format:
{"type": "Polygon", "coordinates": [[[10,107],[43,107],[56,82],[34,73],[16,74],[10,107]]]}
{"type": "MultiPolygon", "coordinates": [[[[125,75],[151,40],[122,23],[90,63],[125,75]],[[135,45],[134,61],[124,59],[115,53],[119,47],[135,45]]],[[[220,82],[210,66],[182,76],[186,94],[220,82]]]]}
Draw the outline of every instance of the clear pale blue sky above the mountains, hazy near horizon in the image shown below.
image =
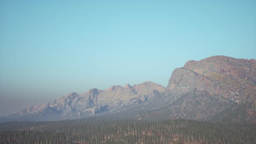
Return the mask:
{"type": "Polygon", "coordinates": [[[256,59],[256,1],[0,1],[0,116],[184,63],[256,59]]]}

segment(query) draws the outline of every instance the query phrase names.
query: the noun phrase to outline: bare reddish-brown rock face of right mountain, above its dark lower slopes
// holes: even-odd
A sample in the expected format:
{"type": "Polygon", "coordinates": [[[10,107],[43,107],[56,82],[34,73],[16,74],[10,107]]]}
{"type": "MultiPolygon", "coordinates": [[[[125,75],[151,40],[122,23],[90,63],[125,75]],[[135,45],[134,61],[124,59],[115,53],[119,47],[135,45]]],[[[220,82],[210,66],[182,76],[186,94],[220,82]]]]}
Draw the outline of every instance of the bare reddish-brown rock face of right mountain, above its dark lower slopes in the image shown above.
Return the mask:
{"type": "Polygon", "coordinates": [[[188,61],[173,71],[167,92],[180,95],[189,91],[206,91],[236,103],[253,100],[256,95],[256,60],[213,56],[188,61]]]}

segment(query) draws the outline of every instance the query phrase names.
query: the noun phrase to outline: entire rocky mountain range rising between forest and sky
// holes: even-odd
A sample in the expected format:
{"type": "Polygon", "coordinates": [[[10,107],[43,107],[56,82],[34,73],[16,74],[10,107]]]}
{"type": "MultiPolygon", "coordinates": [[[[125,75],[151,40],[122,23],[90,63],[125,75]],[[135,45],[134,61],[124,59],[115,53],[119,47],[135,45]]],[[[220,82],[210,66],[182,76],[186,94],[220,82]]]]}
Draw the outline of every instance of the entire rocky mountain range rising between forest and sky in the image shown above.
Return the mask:
{"type": "MultiPolygon", "coordinates": [[[[100,115],[256,123],[256,60],[213,56],[173,71],[166,88],[154,82],[69,93],[8,121],[52,121],[100,115]]],[[[6,118],[4,121],[7,121],[6,118]]]]}

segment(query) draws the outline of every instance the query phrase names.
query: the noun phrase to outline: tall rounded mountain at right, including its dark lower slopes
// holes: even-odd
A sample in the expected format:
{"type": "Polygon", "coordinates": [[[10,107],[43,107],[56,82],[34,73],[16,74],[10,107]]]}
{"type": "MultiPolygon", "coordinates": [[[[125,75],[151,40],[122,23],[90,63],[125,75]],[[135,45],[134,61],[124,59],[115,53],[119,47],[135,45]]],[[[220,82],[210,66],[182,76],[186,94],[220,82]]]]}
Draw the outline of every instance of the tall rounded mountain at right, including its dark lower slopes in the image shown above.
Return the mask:
{"type": "Polygon", "coordinates": [[[213,56],[175,69],[166,94],[181,118],[255,123],[255,80],[255,59],[213,56]]]}

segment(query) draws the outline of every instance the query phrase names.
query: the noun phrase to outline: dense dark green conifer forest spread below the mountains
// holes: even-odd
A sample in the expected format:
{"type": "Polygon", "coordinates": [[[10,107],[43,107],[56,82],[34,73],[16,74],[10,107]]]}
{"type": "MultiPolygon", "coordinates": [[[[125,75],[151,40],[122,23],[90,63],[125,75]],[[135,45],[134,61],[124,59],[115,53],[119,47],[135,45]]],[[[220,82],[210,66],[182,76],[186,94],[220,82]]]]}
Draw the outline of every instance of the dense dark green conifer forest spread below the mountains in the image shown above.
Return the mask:
{"type": "Polygon", "coordinates": [[[183,119],[8,122],[0,124],[0,143],[256,143],[256,127],[183,119]]]}

